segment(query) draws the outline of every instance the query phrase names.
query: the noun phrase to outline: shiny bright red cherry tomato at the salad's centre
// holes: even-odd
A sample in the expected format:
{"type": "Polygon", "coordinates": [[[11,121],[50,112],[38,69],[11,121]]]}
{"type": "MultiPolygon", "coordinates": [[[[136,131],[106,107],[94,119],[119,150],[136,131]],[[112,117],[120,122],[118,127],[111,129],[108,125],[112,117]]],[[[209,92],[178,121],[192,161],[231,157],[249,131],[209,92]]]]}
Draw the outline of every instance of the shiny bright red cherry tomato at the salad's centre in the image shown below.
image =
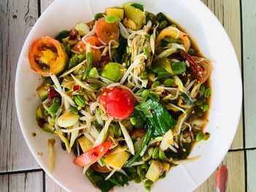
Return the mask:
{"type": "Polygon", "coordinates": [[[126,88],[105,88],[99,96],[99,102],[113,118],[124,119],[135,108],[135,96],[126,88]]]}

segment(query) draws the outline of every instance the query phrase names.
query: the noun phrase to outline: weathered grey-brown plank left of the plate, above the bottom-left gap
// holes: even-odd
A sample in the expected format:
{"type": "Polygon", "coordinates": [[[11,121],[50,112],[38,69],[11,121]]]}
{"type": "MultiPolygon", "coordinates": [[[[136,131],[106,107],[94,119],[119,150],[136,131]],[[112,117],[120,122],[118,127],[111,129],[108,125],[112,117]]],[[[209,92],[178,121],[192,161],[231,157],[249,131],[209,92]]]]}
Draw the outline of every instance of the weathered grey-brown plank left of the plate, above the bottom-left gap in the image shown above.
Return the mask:
{"type": "Polygon", "coordinates": [[[0,7],[0,172],[36,169],[18,125],[14,85],[21,47],[37,20],[37,0],[2,0],[0,7]]]}

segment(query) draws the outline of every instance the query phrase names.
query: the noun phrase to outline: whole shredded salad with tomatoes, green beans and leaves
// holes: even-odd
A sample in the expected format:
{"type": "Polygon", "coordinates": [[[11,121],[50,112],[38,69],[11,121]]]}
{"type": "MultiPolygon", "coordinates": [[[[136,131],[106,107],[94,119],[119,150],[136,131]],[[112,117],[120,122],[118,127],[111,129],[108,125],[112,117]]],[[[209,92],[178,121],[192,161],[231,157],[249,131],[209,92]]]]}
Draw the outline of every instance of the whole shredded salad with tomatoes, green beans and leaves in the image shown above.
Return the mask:
{"type": "Polygon", "coordinates": [[[171,168],[199,158],[188,158],[192,146],[210,137],[203,128],[211,61],[162,12],[133,2],[107,8],[36,39],[29,63],[42,76],[39,127],[59,137],[101,191],[131,180],[149,191],[171,168]]]}

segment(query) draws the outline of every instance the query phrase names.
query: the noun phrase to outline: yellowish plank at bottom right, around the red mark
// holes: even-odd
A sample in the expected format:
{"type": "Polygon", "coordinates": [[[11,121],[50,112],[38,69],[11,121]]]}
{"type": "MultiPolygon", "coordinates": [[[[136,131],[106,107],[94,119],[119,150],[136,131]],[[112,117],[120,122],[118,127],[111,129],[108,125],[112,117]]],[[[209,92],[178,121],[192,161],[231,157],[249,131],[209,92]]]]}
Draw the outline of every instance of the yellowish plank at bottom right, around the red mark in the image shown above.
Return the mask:
{"type": "MultiPolygon", "coordinates": [[[[244,191],[244,151],[227,153],[222,164],[227,165],[228,169],[227,191],[244,191]]],[[[215,172],[194,192],[205,191],[215,191],[215,172]]]]}

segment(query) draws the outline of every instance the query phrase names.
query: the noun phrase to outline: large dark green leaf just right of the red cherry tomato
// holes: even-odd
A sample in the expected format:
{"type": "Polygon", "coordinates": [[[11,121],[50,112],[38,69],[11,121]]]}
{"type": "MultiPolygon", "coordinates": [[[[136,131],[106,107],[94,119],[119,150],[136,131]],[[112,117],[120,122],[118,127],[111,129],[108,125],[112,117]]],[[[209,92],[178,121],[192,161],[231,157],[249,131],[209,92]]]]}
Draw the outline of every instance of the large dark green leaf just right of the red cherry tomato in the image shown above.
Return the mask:
{"type": "Polygon", "coordinates": [[[135,109],[146,115],[148,128],[154,130],[155,135],[165,134],[176,124],[170,113],[152,96],[147,101],[137,105],[135,109]]]}

